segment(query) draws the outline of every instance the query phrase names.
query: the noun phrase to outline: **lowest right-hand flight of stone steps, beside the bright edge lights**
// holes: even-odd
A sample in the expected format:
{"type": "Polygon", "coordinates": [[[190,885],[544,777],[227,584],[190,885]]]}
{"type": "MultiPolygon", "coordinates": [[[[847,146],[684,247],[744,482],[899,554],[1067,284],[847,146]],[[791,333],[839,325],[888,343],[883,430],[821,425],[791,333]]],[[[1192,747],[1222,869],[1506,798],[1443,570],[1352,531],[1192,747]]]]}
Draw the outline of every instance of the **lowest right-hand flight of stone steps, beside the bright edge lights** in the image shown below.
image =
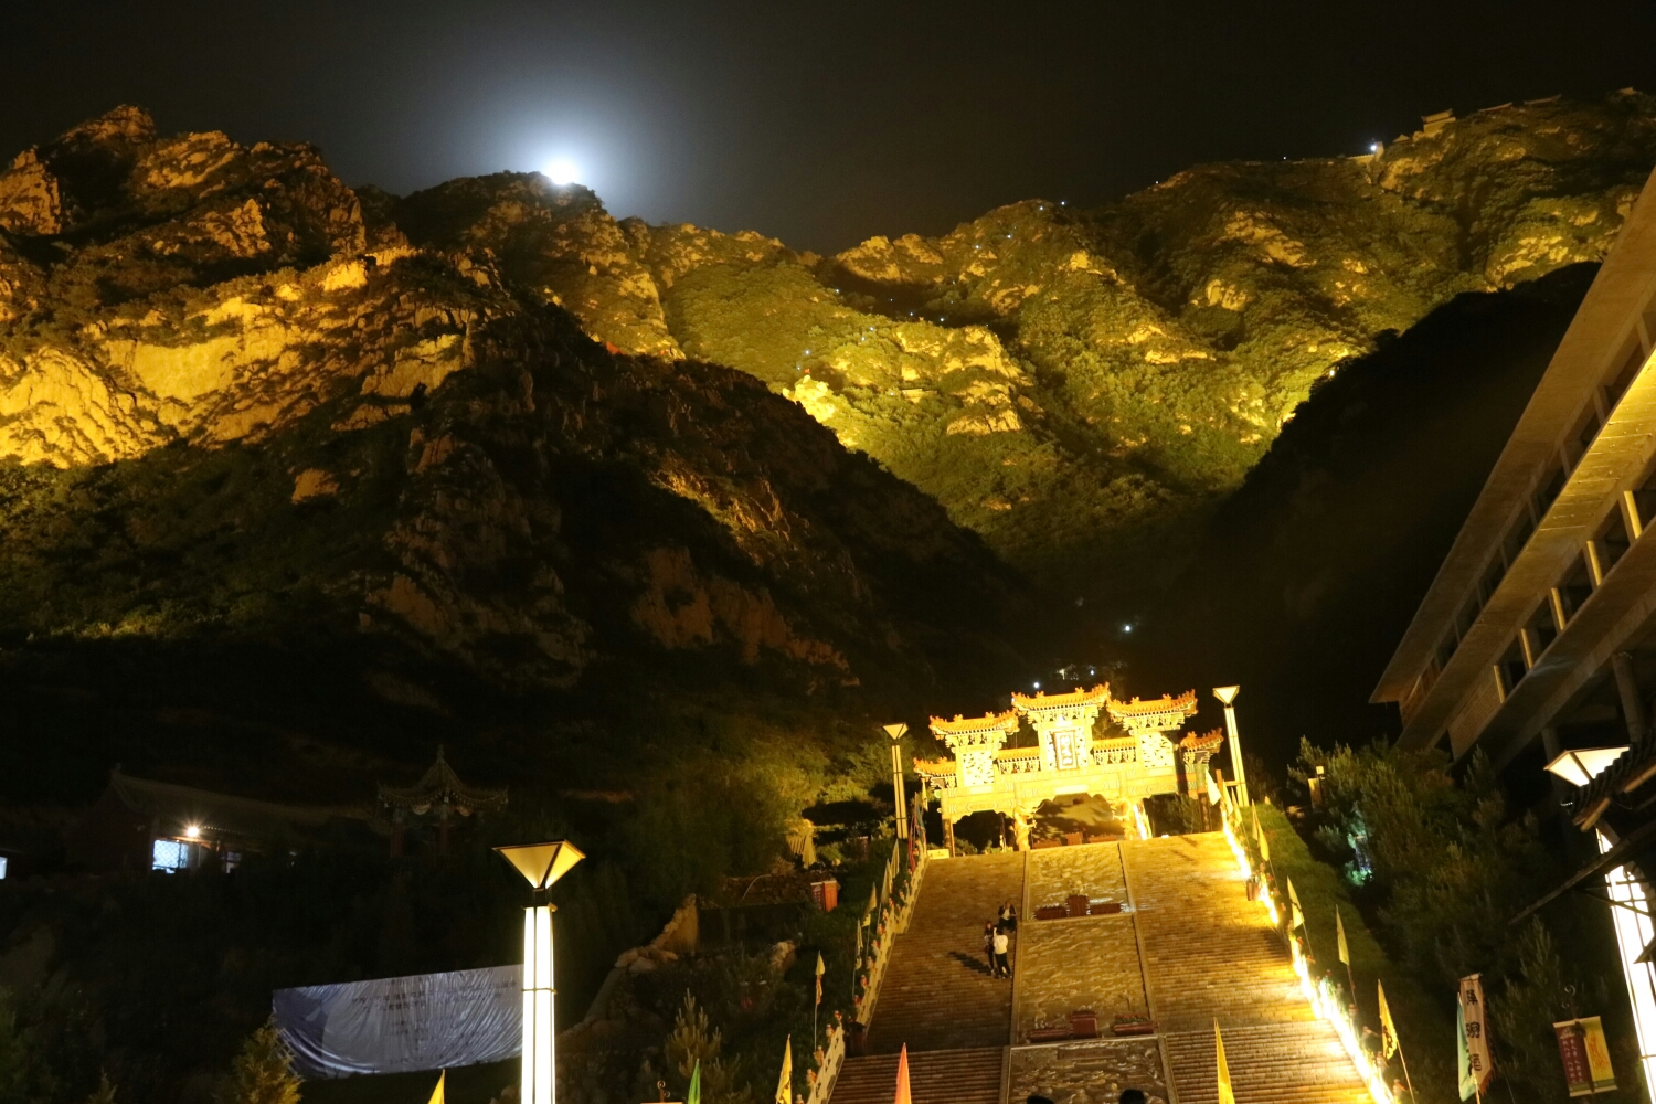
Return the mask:
{"type": "MultiPolygon", "coordinates": [[[[1320,1020],[1254,1026],[1220,1020],[1219,1030],[1239,1104],[1370,1104],[1333,1026],[1320,1020]]],[[[1163,1046],[1179,1104],[1217,1104],[1212,1025],[1164,1034],[1163,1046]]]]}

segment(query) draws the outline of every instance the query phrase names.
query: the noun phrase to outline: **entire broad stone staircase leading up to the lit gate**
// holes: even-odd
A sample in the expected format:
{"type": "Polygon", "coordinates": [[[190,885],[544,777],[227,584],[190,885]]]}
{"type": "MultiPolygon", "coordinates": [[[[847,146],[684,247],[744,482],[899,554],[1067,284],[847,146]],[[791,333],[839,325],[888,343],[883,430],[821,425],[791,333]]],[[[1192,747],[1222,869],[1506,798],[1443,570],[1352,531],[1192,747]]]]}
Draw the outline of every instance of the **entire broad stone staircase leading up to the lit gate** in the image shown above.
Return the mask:
{"type": "Polygon", "coordinates": [[[831,1104],[889,1104],[904,1043],[914,1104],[1114,1104],[1126,1087],[1209,1104],[1214,1020],[1242,1104],[1370,1102],[1222,834],[939,859],[893,945],[869,1053],[846,1061],[831,1104]],[[1123,910],[1033,919],[1073,892],[1123,910]],[[990,978],[982,955],[984,920],[1007,899],[1023,917],[1010,983],[990,978]],[[1105,1038],[1053,1039],[1076,1010],[1091,1010],[1105,1038]],[[1146,1013],[1154,1034],[1110,1038],[1119,1018],[1146,1013]]]}

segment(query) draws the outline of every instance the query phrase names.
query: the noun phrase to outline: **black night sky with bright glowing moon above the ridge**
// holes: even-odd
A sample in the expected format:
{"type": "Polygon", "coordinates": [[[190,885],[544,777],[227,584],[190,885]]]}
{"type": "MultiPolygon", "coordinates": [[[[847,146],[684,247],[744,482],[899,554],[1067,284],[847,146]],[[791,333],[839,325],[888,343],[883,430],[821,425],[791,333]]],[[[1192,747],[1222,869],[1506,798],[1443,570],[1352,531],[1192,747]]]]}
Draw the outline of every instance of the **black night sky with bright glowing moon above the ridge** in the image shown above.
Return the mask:
{"type": "Polygon", "coordinates": [[[0,152],[118,103],[407,192],[571,161],[616,215],[797,248],[1656,89],[1656,3],[5,5],[0,152]]]}

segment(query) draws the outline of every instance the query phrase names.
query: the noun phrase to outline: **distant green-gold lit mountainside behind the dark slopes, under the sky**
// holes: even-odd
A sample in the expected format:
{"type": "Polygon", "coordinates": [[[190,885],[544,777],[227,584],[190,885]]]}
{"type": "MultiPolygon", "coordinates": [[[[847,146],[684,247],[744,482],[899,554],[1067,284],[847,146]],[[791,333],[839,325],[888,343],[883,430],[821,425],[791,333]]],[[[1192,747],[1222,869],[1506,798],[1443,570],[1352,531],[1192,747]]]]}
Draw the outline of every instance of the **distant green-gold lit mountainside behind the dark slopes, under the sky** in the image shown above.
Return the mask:
{"type": "Polygon", "coordinates": [[[1601,258],[1653,164],[1656,99],[1621,93],[1482,111],[1370,157],[1206,166],[1093,212],[1013,204],[833,258],[614,222],[513,175],[394,210],[419,242],[487,243],[621,349],[762,379],[1012,563],[1095,594],[1172,563],[1167,540],[1379,334],[1601,258]]]}

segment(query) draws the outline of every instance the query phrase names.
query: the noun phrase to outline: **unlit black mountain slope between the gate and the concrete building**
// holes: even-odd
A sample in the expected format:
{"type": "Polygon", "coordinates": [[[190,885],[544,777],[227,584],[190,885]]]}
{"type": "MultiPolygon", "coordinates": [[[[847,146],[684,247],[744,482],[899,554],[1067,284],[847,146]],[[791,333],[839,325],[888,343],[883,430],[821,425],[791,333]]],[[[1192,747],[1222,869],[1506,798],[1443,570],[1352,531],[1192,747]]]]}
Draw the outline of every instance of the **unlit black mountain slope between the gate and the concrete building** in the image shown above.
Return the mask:
{"type": "Polygon", "coordinates": [[[1368,695],[1595,271],[1462,295],[1321,384],[1141,611],[1149,680],[1242,684],[1267,760],[1394,733],[1368,695]]]}

